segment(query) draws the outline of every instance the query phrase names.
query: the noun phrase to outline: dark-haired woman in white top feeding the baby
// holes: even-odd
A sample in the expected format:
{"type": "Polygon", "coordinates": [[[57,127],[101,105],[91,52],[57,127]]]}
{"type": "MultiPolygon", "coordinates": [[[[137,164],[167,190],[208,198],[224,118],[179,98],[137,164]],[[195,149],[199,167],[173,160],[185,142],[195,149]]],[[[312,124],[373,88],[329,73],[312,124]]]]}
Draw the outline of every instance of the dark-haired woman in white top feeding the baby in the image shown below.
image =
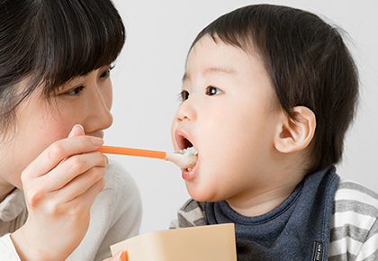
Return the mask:
{"type": "Polygon", "coordinates": [[[1,260],[103,260],[138,234],[136,185],[95,151],[124,41],[110,0],[0,1],[1,260]]]}

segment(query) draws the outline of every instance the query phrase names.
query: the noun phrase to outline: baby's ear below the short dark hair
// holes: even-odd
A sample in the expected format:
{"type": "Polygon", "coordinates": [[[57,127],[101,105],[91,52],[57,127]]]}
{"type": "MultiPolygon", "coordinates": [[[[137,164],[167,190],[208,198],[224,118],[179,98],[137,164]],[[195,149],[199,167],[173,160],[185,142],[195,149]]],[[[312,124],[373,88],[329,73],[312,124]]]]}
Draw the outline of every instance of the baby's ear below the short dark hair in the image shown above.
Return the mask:
{"type": "Polygon", "coordinates": [[[280,129],[275,136],[275,148],[282,153],[290,153],[306,148],[315,132],[314,112],[304,106],[293,108],[293,119],[284,114],[280,129]]]}

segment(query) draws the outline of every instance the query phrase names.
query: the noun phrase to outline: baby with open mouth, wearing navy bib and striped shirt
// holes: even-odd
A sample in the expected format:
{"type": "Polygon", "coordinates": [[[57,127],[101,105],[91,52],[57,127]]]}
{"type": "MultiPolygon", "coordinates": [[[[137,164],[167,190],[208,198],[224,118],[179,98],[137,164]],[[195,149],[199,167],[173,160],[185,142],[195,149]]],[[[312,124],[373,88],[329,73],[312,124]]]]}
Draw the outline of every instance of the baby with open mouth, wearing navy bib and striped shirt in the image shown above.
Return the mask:
{"type": "Polygon", "coordinates": [[[336,29],[269,4],[222,15],[193,41],[181,96],[173,143],[198,160],[171,228],[232,222],[238,260],[378,259],[378,195],[336,173],[358,96],[336,29]]]}

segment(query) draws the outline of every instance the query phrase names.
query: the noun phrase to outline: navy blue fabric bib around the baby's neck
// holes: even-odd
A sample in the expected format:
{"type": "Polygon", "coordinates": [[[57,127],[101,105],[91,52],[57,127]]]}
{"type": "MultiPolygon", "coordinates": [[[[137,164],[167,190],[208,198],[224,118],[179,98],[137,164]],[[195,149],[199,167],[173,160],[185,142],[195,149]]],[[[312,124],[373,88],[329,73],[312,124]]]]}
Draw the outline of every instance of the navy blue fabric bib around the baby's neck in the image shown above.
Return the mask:
{"type": "Polygon", "coordinates": [[[238,261],[326,261],[334,196],[334,166],[308,175],[280,206],[245,217],[225,201],[206,202],[209,224],[235,224],[238,261]]]}

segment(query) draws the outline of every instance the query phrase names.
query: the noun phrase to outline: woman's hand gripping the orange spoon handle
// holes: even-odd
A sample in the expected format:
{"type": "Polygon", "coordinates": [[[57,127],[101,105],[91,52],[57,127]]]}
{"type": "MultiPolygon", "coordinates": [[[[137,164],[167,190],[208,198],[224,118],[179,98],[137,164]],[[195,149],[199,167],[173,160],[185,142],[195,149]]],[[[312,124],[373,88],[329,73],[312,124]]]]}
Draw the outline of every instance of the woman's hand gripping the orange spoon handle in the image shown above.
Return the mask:
{"type": "Polygon", "coordinates": [[[108,159],[94,152],[103,139],[81,126],[46,148],[23,171],[28,220],[12,234],[22,260],[65,260],[89,227],[94,197],[104,186],[108,159]]]}

